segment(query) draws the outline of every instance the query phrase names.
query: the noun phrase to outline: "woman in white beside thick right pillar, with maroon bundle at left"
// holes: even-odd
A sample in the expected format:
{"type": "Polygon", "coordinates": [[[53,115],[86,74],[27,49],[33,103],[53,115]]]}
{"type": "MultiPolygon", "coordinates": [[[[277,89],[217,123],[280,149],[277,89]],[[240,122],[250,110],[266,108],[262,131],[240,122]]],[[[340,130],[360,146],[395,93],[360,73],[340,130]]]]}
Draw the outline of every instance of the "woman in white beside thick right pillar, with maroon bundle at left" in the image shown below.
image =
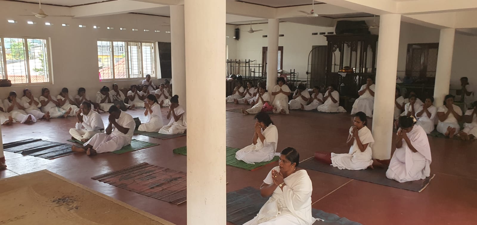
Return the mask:
{"type": "Polygon", "coordinates": [[[371,131],[368,129],[366,114],[357,112],[353,118],[353,127],[346,143],[351,145],[349,153],[315,153],[315,158],[339,169],[360,170],[373,165],[372,145],[374,143],[371,131]]]}

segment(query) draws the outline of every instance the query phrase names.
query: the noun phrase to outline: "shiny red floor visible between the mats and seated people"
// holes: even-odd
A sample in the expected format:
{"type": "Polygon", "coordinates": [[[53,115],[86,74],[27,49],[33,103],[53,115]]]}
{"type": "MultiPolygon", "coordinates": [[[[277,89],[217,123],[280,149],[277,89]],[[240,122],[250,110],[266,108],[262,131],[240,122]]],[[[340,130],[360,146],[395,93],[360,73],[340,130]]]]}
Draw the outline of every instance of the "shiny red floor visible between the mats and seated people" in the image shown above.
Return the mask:
{"type": "MultiPolygon", "coordinates": [[[[226,106],[227,109],[242,107],[235,104],[226,106]]],[[[145,121],[142,109],[128,112],[145,121]]],[[[253,116],[235,112],[227,112],[226,115],[227,146],[249,145],[253,137],[253,116]]],[[[107,121],[108,114],[102,116],[107,121]]],[[[166,124],[166,108],[163,108],[163,117],[166,124]]],[[[292,110],[289,115],[271,118],[279,129],[279,150],[295,147],[301,159],[311,157],[315,151],[348,152],[345,141],[348,129],[352,126],[352,117],[292,110]]],[[[68,130],[74,127],[75,122],[75,118],[69,117],[52,119],[50,122],[40,121],[33,125],[2,126],[3,141],[7,143],[34,137],[66,143],[65,140],[70,138],[68,130]]],[[[371,123],[368,127],[371,128],[371,123]]],[[[91,179],[92,176],[141,162],[187,171],[187,157],[172,153],[172,149],[186,145],[186,137],[161,140],[135,135],[134,138],[160,145],[122,155],[105,153],[87,157],[75,154],[54,160],[5,152],[10,170],[1,171],[0,178],[48,169],[177,225],[185,225],[187,203],[174,205],[91,179]]],[[[351,181],[349,178],[308,170],[313,182],[312,201],[322,198],[313,207],[363,225],[474,224],[477,219],[477,141],[429,137],[429,142],[433,154],[431,172],[436,174],[436,178],[423,192],[351,181]]],[[[227,191],[246,186],[258,188],[273,166],[268,165],[256,171],[227,166],[227,191]]]]}

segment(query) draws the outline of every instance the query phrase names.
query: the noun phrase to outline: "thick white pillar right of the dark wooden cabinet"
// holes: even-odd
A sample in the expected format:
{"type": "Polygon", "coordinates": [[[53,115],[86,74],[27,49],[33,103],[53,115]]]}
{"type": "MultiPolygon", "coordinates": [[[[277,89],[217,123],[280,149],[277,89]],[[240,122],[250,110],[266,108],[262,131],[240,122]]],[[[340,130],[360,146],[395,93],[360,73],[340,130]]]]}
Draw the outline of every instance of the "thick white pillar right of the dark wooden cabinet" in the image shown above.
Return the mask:
{"type": "Polygon", "coordinates": [[[391,157],[400,14],[381,15],[373,113],[373,158],[391,157]]]}

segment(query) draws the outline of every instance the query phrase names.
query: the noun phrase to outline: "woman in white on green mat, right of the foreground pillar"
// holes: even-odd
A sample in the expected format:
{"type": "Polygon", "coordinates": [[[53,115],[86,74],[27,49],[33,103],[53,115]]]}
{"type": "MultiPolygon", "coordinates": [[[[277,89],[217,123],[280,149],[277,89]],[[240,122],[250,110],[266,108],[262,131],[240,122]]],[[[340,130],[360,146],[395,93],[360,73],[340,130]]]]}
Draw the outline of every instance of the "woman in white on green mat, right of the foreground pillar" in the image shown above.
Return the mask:
{"type": "Polygon", "coordinates": [[[278,144],[278,129],[265,112],[255,115],[255,132],[252,144],[240,149],[235,158],[249,164],[270,161],[275,157],[278,144]]]}

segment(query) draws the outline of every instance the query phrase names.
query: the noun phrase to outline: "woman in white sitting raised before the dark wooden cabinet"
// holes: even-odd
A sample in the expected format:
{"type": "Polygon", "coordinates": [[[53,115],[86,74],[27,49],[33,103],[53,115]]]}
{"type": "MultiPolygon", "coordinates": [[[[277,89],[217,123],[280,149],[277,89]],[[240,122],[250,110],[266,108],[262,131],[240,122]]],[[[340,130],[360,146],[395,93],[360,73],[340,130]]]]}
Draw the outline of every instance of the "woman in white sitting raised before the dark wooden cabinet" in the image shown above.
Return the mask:
{"type": "Polygon", "coordinates": [[[354,115],[357,112],[364,112],[367,117],[373,117],[375,89],[376,86],[373,84],[373,78],[367,78],[366,84],[361,86],[361,89],[358,91],[360,97],[354,101],[351,115],[354,115]]]}

